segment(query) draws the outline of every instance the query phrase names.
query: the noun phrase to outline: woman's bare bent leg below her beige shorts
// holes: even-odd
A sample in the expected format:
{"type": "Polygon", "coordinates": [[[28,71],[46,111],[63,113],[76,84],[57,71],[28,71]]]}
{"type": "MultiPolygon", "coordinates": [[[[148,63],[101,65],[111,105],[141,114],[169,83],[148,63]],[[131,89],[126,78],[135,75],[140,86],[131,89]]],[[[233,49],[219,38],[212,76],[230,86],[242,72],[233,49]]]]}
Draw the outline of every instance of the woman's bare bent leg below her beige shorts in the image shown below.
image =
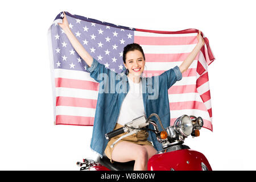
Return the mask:
{"type": "Polygon", "coordinates": [[[112,159],[116,162],[129,162],[135,160],[134,171],[147,170],[147,148],[139,144],[126,141],[115,144],[112,159]]]}

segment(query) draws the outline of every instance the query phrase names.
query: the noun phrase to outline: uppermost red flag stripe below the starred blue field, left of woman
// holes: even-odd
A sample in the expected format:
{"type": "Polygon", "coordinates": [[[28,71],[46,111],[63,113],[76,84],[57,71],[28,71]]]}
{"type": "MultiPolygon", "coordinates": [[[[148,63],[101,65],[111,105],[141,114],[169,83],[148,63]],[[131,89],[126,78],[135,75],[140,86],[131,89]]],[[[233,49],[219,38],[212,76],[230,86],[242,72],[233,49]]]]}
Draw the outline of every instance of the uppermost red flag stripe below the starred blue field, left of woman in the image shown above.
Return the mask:
{"type": "Polygon", "coordinates": [[[85,81],[85,80],[76,80],[69,78],[55,78],[56,87],[64,88],[75,88],[75,89],[86,89],[86,90],[95,90],[98,91],[98,82],[85,81]]]}

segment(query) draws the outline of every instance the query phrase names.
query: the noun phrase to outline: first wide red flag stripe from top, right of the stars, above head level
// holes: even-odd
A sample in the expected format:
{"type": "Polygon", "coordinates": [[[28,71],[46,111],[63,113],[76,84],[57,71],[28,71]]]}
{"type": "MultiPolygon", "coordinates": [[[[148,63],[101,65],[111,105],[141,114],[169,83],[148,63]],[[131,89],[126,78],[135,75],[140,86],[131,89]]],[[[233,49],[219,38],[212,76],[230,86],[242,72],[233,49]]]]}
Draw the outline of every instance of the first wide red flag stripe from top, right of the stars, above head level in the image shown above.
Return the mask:
{"type": "Polygon", "coordinates": [[[181,37],[157,37],[156,36],[134,36],[134,43],[140,45],[188,45],[196,44],[196,36],[181,36],[181,37]]]}

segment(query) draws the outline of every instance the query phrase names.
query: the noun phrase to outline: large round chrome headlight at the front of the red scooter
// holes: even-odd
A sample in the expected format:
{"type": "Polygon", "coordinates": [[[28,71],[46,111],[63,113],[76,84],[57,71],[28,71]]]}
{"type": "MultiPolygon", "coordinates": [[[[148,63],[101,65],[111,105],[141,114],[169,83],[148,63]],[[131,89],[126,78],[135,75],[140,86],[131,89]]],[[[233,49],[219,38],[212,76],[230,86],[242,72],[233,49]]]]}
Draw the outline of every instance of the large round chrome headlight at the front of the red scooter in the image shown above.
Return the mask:
{"type": "Polygon", "coordinates": [[[184,137],[188,137],[193,130],[191,118],[189,118],[188,115],[182,115],[174,122],[174,128],[177,133],[183,135],[184,137]]]}

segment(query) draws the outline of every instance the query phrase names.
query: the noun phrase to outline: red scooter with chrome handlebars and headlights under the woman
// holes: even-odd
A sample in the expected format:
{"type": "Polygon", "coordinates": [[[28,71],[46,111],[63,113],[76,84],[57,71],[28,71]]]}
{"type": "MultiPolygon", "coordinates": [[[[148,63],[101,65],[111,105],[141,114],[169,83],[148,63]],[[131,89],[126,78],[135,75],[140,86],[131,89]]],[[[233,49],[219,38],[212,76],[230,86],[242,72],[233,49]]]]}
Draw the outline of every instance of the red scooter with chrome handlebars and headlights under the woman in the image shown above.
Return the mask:
{"type": "MultiPolygon", "coordinates": [[[[153,113],[148,118],[143,115],[126,123],[120,129],[105,134],[105,137],[106,139],[110,139],[127,132],[126,135],[118,138],[113,143],[113,147],[122,138],[133,135],[140,130],[151,130],[147,127],[150,124],[154,126],[154,130],[152,131],[156,134],[158,142],[162,143],[163,150],[158,151],[148,160],[147,169],[149,171],[212,171],[207,158],[203,154],[191,150],[183,144],[184,139],[189,135],[199,137],[199,130],[204,125],[201,117],[182,115],[176,119],[174,126],[164,129],[157,114],[153,113]],[[153,116],[158,119],[162,131],[159,131],[158,125],[150,119],[153,116]]],[[[98,157],[96,162],[94,160],[84,159],[83,162],[77,162],[77,165],[81,167],[80,170],[89,171],[133,171],[134,161],[111,163],[109,158],[104,154],[102,158],[98,157]]]]}

